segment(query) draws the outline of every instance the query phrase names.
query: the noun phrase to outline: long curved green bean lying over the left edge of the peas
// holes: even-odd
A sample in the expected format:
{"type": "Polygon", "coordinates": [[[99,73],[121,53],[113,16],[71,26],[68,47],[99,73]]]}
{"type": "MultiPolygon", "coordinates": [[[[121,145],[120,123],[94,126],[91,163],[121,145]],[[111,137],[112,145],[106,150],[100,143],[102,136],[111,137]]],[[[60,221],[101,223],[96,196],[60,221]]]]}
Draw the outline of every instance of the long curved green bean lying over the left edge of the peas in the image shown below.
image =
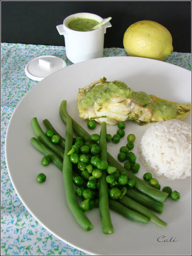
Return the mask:
{"type": "Polygon", "coordinates": [[[91,230],[93,228],[92,223],[82,211],[78,204],[77,197],[73,188],[73,169],[70,156],[67,155],[73,145],[73,128],[71,118],[66,120],[66,135],[65,135],[65,152],[63,158],[63,179],[65,186],[65,196],[67,205],[72,212],[77,223],[85,230],[91,230]]]}

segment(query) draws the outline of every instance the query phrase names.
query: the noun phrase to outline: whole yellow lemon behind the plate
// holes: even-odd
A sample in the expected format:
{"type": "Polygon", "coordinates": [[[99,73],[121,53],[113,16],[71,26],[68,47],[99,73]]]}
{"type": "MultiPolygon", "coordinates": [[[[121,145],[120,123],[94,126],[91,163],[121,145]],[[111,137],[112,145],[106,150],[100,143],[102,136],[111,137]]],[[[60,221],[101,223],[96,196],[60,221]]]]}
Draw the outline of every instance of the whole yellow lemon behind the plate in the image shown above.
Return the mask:
{"type": "Polygon", "coordinates": [[[129,26],[123,37],[129,56],[164,60],[173,52],[172,36],[161,24],[151,20],[137,21],[129,26]]]}

